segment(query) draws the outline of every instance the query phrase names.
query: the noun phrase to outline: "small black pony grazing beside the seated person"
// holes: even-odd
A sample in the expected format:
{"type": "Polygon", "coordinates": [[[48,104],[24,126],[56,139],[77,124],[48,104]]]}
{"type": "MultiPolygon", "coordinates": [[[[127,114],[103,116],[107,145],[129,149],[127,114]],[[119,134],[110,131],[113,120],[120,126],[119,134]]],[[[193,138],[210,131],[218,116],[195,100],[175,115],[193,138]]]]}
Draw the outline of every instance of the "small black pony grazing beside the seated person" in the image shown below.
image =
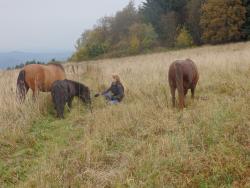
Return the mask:
{"type": "Polygon", "coordinates": [[[71,80],[55,81],[52,84],[51,95],[58,118],[64,118],[64,106],[67,103],[68,107],[71,108],[75,96],[88,104],[92,112],[89,88],[79,82],[71,80]]]}

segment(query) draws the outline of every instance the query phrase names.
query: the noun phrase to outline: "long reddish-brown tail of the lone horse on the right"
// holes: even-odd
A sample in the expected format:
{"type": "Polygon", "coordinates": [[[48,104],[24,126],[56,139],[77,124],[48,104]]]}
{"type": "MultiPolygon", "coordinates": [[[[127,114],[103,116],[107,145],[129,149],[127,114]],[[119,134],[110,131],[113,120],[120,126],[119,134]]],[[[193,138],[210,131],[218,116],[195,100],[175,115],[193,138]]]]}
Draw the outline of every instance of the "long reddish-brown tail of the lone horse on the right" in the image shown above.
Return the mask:
{"type": "Polygon", "coordinates": [[[178,90],[179,97],[179,107],[180,109],[184,108],[184,88],[183,88],[183,70],[180,63],[175,63],[175,77],[176,77],[176,86],[178,90]]]}

